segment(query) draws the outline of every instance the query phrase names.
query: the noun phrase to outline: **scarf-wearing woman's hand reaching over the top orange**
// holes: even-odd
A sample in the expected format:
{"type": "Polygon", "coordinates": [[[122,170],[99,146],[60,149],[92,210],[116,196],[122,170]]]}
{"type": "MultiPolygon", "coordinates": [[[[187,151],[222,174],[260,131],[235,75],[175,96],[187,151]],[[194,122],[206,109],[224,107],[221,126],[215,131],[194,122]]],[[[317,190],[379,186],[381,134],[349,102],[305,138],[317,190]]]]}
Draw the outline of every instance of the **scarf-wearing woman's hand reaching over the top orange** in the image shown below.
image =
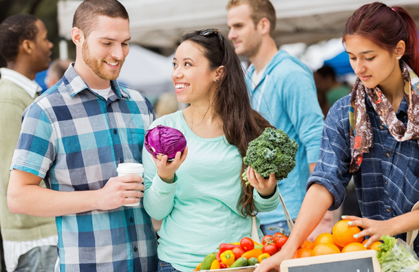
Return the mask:
{"type": "Polygon", "coordinates": [[[348,222],[348,225],[363,228],[363,231],[354,235],[354,238],[356,238],[356,236],[358,236],[358,238],[363,236],[369,236],[369,240],[365,243],[365,247],[369,247],[369,245],[371,245],[372,242],[380,240],[380,238],[385,235],[396,235],[393,233],[392,226],[391,224],[389,224],[388,221],[372,220],[368,218],[361,218],[358,216],[342,216],[342,219],[350,220],[350,222],[348,222]]]}

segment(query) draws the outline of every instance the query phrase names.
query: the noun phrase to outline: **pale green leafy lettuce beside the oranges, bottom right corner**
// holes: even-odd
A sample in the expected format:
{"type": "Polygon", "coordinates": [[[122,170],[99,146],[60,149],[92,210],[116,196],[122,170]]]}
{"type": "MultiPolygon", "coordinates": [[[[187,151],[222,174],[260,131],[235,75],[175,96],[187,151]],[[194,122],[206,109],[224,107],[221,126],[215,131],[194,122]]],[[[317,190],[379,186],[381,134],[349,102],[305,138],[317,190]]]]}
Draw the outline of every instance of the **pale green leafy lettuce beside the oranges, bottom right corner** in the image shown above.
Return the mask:
{"type": "Polygon", "coordinates": [[[383,244],[378,246],[377,258],[382,272],[419,271],[416,253],[401,239],[383,236],[383,244]]]}

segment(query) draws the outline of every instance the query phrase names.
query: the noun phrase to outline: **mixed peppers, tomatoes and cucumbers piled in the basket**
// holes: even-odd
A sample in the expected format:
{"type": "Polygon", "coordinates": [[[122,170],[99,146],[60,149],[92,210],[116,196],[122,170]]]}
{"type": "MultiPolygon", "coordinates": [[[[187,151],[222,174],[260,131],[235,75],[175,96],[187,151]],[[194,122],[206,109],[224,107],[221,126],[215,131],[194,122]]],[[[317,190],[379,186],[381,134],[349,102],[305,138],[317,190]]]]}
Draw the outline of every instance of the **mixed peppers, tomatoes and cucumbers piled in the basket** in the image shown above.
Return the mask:
{"type": "Polygon", "coordinates": [[[277,232],[274,236],[264,236],[261,245],[248,237],[240,242],[220,244],[218,251],[205,256],[195,271],[254,266],[281,250],[286,242],[281,238],[285,237],[288,239],[283,232],[277,232]]]}

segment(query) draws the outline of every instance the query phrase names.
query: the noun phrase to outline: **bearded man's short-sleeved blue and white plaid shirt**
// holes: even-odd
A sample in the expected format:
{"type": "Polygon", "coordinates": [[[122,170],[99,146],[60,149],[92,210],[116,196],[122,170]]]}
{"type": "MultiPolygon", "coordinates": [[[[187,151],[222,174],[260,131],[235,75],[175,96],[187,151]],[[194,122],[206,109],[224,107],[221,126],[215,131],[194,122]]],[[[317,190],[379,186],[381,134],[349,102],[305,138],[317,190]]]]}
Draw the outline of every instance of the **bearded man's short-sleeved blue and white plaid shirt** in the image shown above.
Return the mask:
{"type": "MultiPolygon", "coordinates": [[[[122,162],[142,162],[153,106],[111,81],[107,101],[72,66],[23,113],[11,169],[45,179],[57,191],[103,188],[122,162]]],[[[54,205],[54,203],[52,203],[54,205]]],[[[56,217],[60,271],[157,271],[157,240],[139,207],[56,217]]]]}

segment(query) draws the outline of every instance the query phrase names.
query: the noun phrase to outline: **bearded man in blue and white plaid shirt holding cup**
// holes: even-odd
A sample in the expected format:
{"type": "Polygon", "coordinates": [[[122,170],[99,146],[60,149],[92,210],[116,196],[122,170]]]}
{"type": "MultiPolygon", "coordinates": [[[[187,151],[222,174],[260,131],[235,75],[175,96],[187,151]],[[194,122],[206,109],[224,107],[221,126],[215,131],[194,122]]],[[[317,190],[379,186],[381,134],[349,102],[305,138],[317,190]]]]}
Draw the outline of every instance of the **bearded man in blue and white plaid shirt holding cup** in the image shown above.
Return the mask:
{"type": "Polygon", "coordinates": [[[56,216],[56,271],[157,271],[142,178],[116,173],[119,163],[142,162],[154,119],[149,100],[116,81],[130,38],[118,1],[81,3],[72,29],[76,62],[23,113],[8,205],[14,213],[56,216]]]}

